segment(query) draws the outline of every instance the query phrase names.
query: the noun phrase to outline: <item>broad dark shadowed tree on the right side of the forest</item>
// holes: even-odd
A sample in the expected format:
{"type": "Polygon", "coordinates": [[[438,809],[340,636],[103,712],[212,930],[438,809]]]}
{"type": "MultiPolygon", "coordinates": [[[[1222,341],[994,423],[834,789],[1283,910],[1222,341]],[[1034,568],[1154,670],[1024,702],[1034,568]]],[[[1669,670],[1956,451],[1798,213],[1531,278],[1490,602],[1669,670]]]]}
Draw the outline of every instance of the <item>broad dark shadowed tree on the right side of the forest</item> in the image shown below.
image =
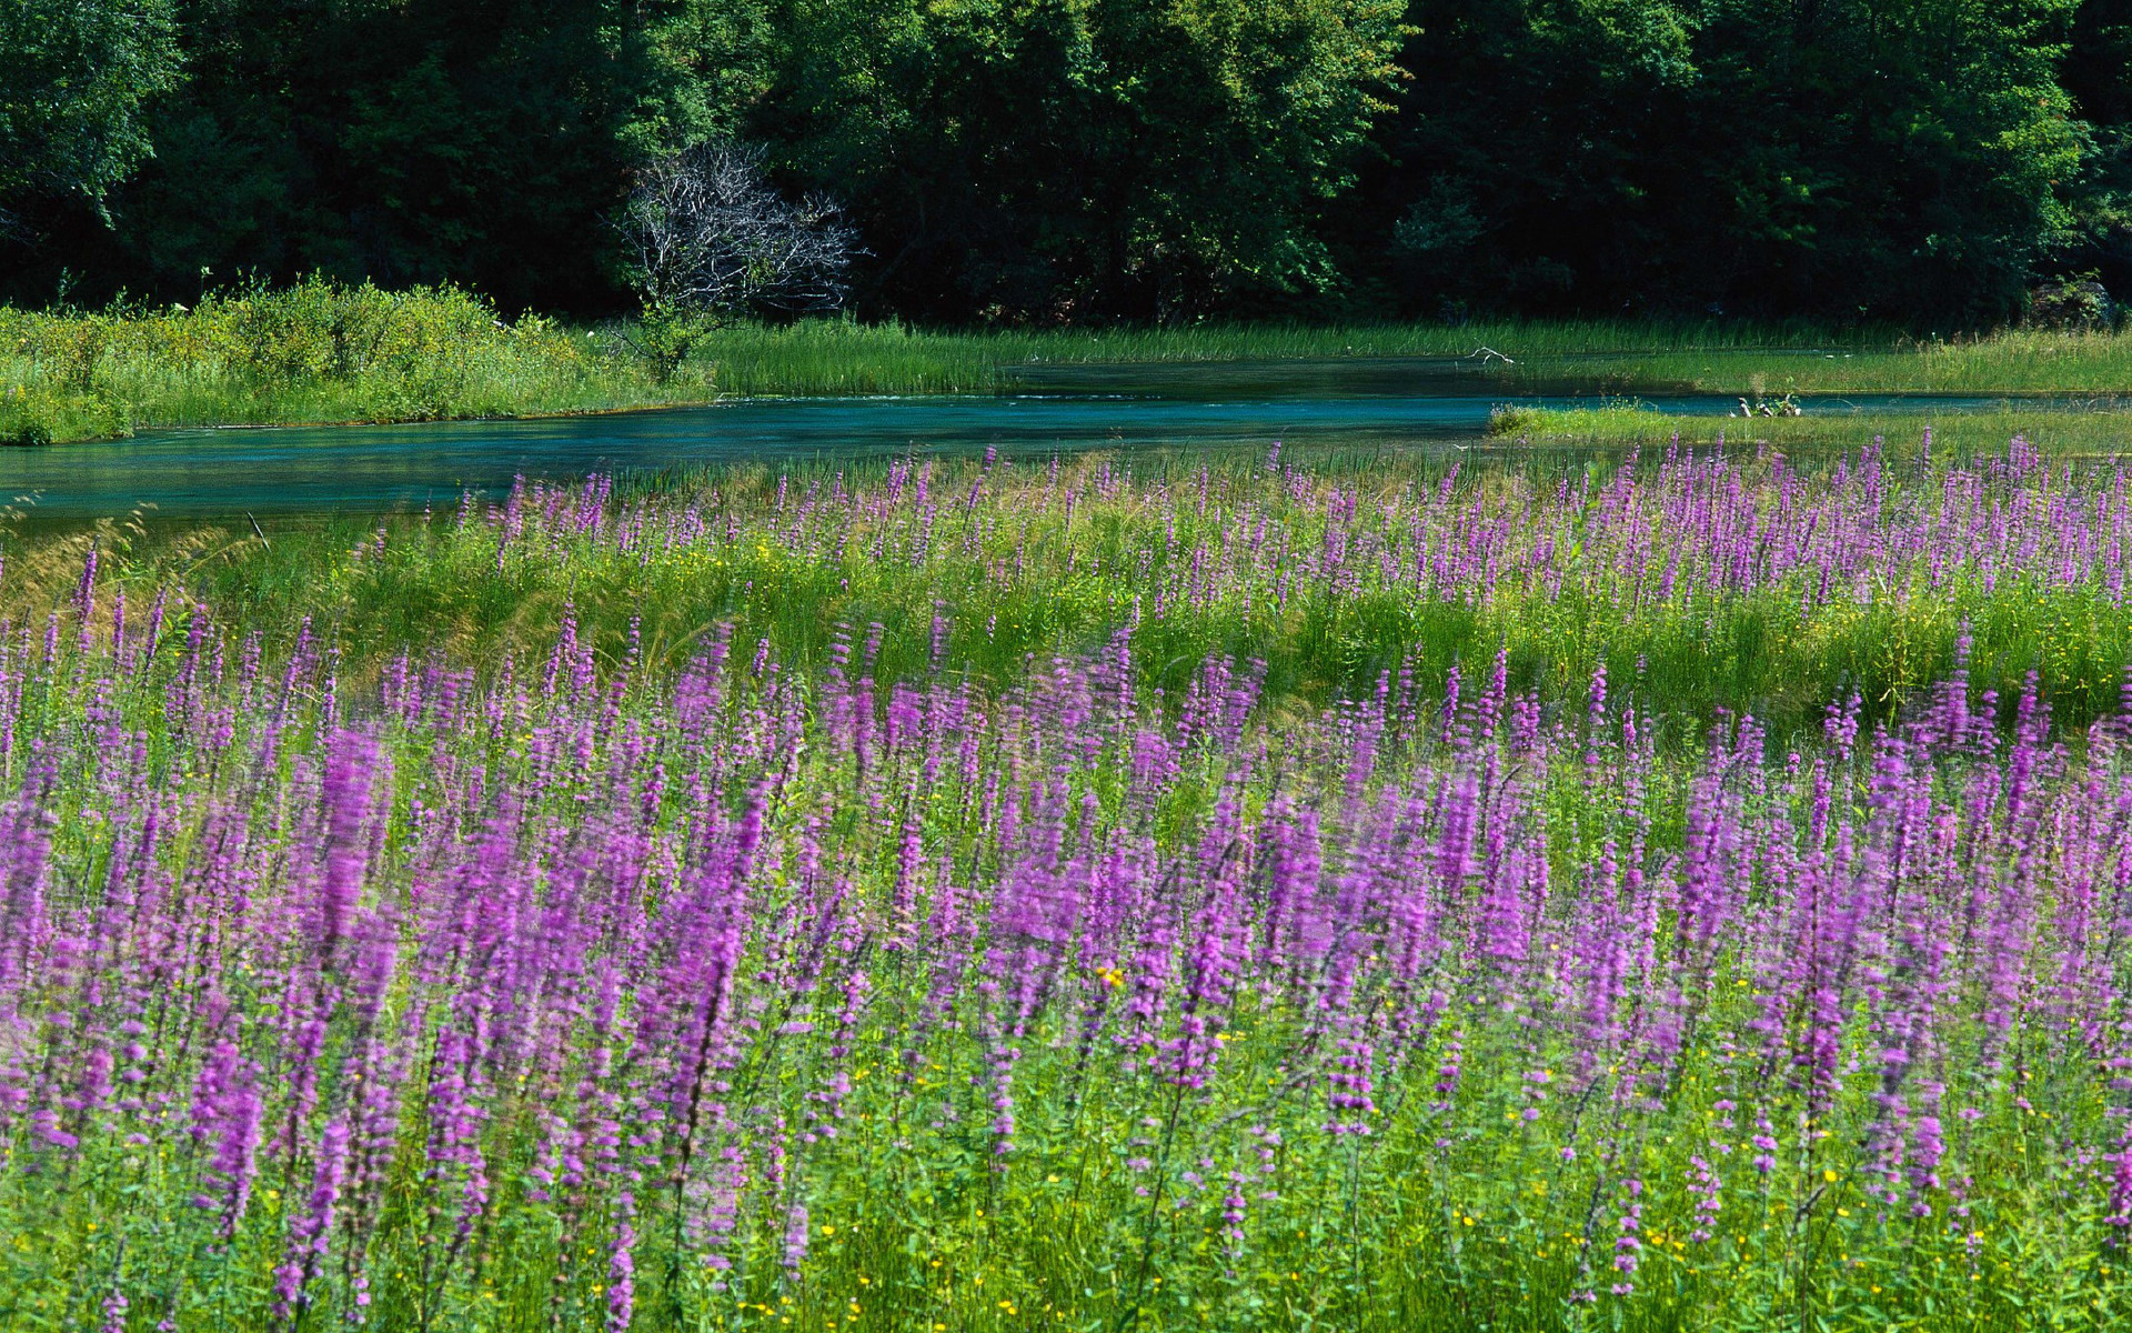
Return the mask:
{"type": "Polygon", "coordinates": [[[1418,0],[1409,299],[1987,320],[2064,235],[2072,0],[1418,0]]]}

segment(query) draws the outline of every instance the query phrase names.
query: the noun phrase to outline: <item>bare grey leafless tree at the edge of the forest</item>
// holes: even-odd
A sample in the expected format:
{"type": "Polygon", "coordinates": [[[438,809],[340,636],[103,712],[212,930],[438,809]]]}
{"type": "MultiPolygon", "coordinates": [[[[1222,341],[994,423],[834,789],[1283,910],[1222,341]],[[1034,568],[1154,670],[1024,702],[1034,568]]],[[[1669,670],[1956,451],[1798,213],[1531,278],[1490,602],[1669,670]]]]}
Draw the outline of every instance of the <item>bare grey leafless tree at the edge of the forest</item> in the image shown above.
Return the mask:
{"type": "Polygon", "coordinates": [[[648,309],[731,316],[817,314],[844,303],[857,232],[825,196],[797,203],[763,175],[759,149],[704,143],[637,173],[620,215],[648,309]]]}

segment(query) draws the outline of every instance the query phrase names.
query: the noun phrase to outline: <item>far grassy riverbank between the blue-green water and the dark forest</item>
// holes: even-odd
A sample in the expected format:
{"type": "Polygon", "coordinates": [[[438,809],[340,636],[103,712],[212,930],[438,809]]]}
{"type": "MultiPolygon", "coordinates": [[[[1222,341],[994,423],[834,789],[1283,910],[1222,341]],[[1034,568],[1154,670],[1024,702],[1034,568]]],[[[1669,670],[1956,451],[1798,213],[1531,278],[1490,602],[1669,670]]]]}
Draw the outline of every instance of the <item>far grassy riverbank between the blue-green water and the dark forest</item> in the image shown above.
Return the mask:
{"type": "MultiPolygon", "coordinates": [[[[1367,328],[917,331],[804,322],[699,335],[663,369],[629,324],[501,320],[458,290],[307,282],[192,309],[0,307],[0,441],[109,439],[215,424],[537,416],[718,395],[1002,392],[1070,365],[1456,356],[1480,392],[2104,395],[2132,386],[2132,335],[2017,331],[1970,341],[1708,322],[1490,322],[1367,328]]],[[[2096,418],[2096,429],[2109,429],[2096,418]]],[[[1597,429],[1578,422],[1576,429],[1597,429]]],[[[1642,422],[1637,422],[1642,429],[1642,422]]]]}

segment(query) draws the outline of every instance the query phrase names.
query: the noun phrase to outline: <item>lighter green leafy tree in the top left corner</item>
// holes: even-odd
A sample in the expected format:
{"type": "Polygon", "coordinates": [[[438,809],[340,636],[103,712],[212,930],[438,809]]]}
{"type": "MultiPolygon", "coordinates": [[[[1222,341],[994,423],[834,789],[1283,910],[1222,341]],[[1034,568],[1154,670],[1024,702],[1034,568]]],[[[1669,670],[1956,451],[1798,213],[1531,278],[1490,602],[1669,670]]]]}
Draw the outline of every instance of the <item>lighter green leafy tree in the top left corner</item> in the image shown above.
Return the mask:
{"type": "Polygon", "coordinates": [[[143,107],[177,70],[168,0],[0,0],[0,209],[100,207],[149,151],[143,107]]]}

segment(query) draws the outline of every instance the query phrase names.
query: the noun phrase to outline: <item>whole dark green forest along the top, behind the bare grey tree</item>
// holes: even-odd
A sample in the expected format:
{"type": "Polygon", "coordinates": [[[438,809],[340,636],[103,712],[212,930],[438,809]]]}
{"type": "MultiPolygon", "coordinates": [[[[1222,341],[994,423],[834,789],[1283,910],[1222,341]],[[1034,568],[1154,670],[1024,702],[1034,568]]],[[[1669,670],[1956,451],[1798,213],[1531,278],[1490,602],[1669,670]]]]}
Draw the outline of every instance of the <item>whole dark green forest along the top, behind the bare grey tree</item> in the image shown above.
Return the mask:
{"type": "Polygon", "coordinates": [[[620,314],[637,173],[733,143],[868,320],[1949,333],[2132,288],[2128,55],[2132,0],[4,0],[0,299],[620,314]]]}

